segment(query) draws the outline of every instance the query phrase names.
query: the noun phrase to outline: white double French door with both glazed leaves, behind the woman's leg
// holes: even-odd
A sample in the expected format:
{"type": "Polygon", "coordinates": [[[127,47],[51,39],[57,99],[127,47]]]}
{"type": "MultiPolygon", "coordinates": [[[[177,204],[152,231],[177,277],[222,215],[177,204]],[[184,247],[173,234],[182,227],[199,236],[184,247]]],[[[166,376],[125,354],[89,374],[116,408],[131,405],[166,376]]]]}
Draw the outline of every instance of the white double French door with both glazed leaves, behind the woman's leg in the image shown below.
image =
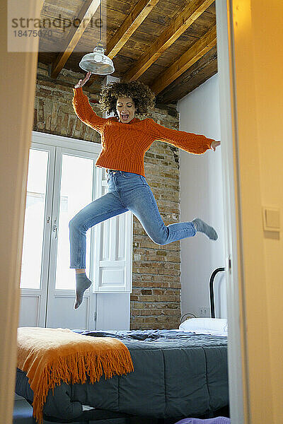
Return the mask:
{"type": "MultiPolygon", "coordinates": [[[[74,269],[69,268],[69,221],[95,199],[97,153],[90,150],[72,149],[66,142],[65,146],[32,143],[19,326],[96,328],[96,294],[88,290],[83,304],[74,310],[76,278],[74,269]]],[[[91,228],[86,232],[86,275],[91,279],[93,245],[91,228]]]]}

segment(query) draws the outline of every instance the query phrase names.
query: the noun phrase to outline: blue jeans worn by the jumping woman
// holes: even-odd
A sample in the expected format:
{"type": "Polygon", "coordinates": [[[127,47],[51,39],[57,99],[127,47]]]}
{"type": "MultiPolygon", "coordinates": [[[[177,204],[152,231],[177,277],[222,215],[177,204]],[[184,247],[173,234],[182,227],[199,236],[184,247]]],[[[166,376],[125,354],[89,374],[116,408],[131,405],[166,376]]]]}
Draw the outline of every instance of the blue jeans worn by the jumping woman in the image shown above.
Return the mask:
{"type": "Polygon", "coordinates": [[[157,245],[168,245],[196,234],[191,222],[165,225],[145,177],[109,171],[108,193],[91,202],[69,222],[70,268],[86,268],[86,231],[112,216],[132,211],[157,245]]]}

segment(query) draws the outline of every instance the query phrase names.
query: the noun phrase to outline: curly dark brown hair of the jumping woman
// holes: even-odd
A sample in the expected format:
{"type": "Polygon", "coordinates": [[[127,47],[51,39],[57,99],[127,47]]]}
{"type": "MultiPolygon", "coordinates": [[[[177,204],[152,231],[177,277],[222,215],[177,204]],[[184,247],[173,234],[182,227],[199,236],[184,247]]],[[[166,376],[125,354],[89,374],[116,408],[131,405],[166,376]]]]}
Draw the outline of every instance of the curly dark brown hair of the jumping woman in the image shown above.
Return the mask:
{"type": "Polygon", "coordinates": [[[99,104],[103,112],[114,112],[115,117],[118,117],[116,105],[120,97],[132,98],[138,115],[148,116],[148,111],[155,106],[154,93],[141,81],[108,83],[101,89],[100,95],[99,104]]]}

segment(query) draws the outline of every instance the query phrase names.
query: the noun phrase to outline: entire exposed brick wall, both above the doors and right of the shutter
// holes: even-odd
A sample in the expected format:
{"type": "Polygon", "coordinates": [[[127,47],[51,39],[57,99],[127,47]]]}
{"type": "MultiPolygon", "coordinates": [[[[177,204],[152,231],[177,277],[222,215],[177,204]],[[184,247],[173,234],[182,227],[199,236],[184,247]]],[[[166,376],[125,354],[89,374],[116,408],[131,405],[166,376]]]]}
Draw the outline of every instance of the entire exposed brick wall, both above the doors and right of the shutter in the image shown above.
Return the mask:
{"type": "MultiPolygon", "coordinates": [[[[63,69],[57,80],[47,66],[38,64],[35,94],[34,131],[46,132],[100,143],[100,136],[76,117],[71,105],[75,83],[81,73],[63,69]]],[[[99,98],[101,81],[85,88],[92,102],[99,98]]],[[[100,106],[92,103],[101,116],[100,106]]],[[[169,128],[178,129],[174,105],[158,105],[151,117],[169,128]]],[[[166,225],[180,220],[179,151],[155,141],[144,158],[146,180],[166,225]]],[[[134,216],[133,290],[131,329],[173,329],[180,322],[180,242],[156,245],[134,216]]]]}

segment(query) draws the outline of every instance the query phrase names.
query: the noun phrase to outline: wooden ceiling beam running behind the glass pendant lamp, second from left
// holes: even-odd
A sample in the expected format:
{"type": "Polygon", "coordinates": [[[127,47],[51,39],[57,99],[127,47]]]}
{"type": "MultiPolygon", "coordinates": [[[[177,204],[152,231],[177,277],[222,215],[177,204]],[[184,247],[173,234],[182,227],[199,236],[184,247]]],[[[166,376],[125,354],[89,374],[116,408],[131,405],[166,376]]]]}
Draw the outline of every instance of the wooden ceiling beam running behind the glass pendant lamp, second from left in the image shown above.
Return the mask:
{"type": "MultiPolygon", "coordinates": [[[[139,0],[139,2],[134,6],[107,45],[106,54],[110,57],[110,59],[113,59],[113,57],[120,52],[120,49],[122,49],[122,47],[126,44],[129,37],[132,36],[137,28],[139,28],[139,25],[141,25],[146,16],[149,15],[154,6],[158,4],[158,1],[159,0],[139,0]]],[[[91,78],[89,78],[86,82],[85,86],[91,86],[96,78],[98,78],[98,76],[93,73],[91,78]]]]}

